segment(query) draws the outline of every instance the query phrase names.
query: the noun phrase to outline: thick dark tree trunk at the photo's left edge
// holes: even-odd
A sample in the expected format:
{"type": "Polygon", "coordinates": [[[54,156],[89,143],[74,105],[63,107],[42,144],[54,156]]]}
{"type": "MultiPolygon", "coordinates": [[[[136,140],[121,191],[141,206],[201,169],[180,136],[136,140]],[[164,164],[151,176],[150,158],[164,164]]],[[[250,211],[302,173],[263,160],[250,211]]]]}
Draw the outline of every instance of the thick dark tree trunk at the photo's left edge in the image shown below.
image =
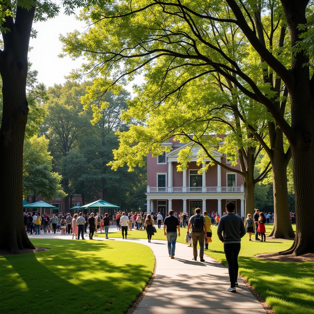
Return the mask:
{"type": "Polygon", "coordinates": [[[0,53],[3,115],[0,129],[0,195],[2,211],[0,248],[19,253],[35,249],[24,227],[23,219],[23,145],[27,122],[26,77],[28,48],[35,7],[29,11],[16,8],[15,22],[6,17],[3,23],[10,31],[3,33],[4,49],[0,53]]]}

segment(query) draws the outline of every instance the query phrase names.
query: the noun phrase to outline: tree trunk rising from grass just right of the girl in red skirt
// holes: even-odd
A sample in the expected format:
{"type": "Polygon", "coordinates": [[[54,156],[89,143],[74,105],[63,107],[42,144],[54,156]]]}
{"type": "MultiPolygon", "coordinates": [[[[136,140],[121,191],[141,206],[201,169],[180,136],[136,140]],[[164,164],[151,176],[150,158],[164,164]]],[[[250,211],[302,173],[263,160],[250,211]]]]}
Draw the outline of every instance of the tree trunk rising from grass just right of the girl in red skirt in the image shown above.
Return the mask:
{"type": "Polygon", "coordinates": [[[269,236],[279,239],[294,238],[290,220],[287,187],[287,165],[290,157],[284,153],[283,133],[276,130],[273,147],[273,196],[274,196],[274,224],[269,236]]]}

